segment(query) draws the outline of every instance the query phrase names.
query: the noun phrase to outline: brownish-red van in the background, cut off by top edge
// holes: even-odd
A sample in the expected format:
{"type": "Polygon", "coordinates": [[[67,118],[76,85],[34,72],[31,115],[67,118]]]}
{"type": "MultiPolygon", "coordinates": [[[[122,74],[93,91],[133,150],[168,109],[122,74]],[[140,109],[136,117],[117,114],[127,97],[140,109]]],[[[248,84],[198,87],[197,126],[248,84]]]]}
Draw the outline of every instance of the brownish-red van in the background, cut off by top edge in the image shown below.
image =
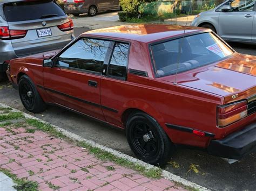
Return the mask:
{"type": "Polygon", "coordinates": [[[80,14],[88,13],[96,16],[98,12],[109,10],[120,10],[119,0],[64,0],[66,13],[78,17],[80,14]]]}

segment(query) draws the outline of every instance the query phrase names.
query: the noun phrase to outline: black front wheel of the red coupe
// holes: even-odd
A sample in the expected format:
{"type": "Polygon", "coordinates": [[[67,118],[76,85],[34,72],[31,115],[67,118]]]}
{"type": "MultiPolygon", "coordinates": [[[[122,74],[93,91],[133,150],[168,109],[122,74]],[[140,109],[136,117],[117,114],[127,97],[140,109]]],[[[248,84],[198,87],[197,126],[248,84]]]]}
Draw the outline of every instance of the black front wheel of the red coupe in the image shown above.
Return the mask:
{"type": "Polygon", "coordinates": [[[38,113],[46,109],[46,104],[39,95],[35,84],[29,76],[23,75],[18,84],[19,97],[26,110],[38,113]]]}

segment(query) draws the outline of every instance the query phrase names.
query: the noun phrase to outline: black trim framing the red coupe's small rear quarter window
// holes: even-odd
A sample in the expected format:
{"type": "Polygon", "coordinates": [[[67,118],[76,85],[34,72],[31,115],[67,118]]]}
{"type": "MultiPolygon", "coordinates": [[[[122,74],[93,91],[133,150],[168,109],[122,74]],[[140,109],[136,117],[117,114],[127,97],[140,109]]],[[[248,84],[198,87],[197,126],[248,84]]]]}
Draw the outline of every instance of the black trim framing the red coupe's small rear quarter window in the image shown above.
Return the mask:
{"type": "Polygon", "coordinates": [[[129,58],[130,58],[130,49],[131,49],[131,43],[130,42],[127,42],[127,41],[113,41],[113,46],[112,46],[112,49],[111,49],[111,55],[110,55],[109,60],[107,62],[107,68],[106,68],[106,73],[105,73],[106,77],[116,79],[116,80],[122,80],[122,81],[127,80],[129,58]],[[112,56],[113,56],[113,53],[114,53],[114,48],[116,47],[117,43],[123,43],[123,44],[127,44],[129,46],[128,51],[127,51],[127,63],[126,63],[126,68],[125,68],[125,77],[118,77],[118,76],[109,75],[109,66],[110,66],[110,62],[111,62],[111,59],[112,59],[112,56]]]}

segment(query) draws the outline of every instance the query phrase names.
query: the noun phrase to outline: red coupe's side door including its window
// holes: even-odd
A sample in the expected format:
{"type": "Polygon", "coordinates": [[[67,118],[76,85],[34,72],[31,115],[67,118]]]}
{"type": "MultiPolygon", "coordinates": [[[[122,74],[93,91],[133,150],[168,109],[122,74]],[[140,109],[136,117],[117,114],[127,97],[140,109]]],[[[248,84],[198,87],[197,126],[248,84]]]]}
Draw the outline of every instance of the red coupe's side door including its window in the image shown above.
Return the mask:
{"type": "Polygon", "coordinates": [[[44,89],[56,104],[105,120],[100,79],[110,41],[80,38],[44,68],[44,89]]]}

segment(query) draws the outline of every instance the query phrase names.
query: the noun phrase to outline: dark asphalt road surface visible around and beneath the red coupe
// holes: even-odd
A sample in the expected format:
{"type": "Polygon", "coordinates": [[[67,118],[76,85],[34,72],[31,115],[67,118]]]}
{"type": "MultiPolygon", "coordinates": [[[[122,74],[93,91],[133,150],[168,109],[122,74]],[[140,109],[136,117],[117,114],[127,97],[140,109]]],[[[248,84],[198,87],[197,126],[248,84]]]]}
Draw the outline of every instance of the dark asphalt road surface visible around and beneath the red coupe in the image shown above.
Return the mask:
{"type": "MultiPolygon", "coordinates": [[[[77,36],[87,30],[87,28],[77,28],[75,34],[77,36]]],[[[241,44],[231,44],[231,46],[238,52],[256,55],[253,46],[241,44]]],[[[18,91],[12,89],[8,82],[0,82],[0,102],[25,111],[19,100],[18,91]]],[[[122,130],[114,129],[89,117],[50,106],[42,114],[36,114],[36,117],[86,139],[133,155],[122,130]]],[[[205,152],[179,147],[165,169],[212,190],[256,190],[255,159],[256,149],[244,159],[230,165],[223,159],[205,152]]]]}

